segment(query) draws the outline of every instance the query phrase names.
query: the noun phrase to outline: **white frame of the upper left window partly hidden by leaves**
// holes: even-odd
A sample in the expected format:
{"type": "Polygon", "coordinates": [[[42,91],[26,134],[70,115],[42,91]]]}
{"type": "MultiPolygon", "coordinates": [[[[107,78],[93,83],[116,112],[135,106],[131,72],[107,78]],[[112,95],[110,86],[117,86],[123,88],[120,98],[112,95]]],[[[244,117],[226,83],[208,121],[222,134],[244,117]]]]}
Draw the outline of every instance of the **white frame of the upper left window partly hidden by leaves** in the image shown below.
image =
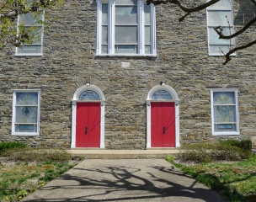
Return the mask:
{"type": "MultiPolygon", "coordinates": [[[[42,14],[42,21],[45,21],[45,11],[40,12],[42,14]]],[[[19,20],[20,15],[18,16],[18,24],[17,24],[17,32],[19,33],[19,20]]],[[[19,50],[22,50],[22,48],[16,47],[15,48],[15,56],[43,56],[43,39],[44,39],[44,25],[43,24],[36,24],[37,27],[41,27],[41,33],[40,33],[40,43],[35,44],[24,44],[25,45],[40,45],[40,52],[39,53],[22,53],[19,52],[19,50]]]]}

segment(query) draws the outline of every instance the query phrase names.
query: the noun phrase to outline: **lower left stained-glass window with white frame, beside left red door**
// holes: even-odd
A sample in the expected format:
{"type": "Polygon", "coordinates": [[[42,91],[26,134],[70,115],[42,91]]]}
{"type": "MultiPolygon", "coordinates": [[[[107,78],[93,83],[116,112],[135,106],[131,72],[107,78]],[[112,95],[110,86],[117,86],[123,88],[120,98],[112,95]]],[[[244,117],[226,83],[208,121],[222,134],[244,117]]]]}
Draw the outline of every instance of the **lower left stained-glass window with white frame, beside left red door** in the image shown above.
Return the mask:
{"type": "Polygon", "coordinates": [[[14,90],[12,135],[39,135],[40,90],[14,90]]]}

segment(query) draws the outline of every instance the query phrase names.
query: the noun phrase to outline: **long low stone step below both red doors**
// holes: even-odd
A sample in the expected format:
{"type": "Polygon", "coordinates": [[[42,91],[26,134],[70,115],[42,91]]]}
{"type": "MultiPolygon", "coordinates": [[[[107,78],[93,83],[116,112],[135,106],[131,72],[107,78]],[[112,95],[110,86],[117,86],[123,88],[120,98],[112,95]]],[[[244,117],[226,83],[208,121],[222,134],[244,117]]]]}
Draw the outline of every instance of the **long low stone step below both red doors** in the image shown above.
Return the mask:
{"type": "Polygon", "coordinates": [[[168,154],[177,155],[179,149],[150,149],[150,150],[104,150],[104,149],[71,149],[73,157],[90,159],[125,159],[125,158],[164,158],[168,154]]]}

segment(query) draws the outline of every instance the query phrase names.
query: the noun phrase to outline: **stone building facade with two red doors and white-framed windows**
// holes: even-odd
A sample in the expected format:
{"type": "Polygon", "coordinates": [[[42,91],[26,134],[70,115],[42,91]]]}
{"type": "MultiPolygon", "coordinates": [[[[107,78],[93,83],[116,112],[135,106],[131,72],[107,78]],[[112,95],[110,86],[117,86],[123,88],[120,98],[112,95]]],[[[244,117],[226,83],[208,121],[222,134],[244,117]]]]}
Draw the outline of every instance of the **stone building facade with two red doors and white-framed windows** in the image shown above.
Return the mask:
{"type": "MultiPolygon", "coordinates": [[[[141,0],[72,0],[45,10],[40,40],[0,52],[0,140],[142,150],[249,139],[255,146],[255,47],[223,66],[220,50],[239,39],[218,40],[212,29],[240,29],[255,12],[248,0],[221,0],[182,23],[178,8],[141,0]]],[[[31,16],[19,22],[26,18],[31,26],[31,16]]],[[[255,38],[255,25],[243,36],[255,38]]]]}

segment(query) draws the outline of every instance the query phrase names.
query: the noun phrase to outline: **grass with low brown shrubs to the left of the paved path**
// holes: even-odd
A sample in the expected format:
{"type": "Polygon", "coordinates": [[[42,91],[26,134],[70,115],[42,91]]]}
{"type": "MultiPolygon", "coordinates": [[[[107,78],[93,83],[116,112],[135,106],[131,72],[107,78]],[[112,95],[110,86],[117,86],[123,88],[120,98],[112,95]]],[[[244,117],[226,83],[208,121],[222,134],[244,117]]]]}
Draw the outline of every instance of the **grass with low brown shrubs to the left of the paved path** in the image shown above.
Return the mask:
{"type": "Polygon", "coordinates": [[[0,201],[16,202],[77,165],[67,151],[50,148],[8,148],[0,162],[0,201]],[[31,155],[34,154],[34,155],[31,155]]]}

